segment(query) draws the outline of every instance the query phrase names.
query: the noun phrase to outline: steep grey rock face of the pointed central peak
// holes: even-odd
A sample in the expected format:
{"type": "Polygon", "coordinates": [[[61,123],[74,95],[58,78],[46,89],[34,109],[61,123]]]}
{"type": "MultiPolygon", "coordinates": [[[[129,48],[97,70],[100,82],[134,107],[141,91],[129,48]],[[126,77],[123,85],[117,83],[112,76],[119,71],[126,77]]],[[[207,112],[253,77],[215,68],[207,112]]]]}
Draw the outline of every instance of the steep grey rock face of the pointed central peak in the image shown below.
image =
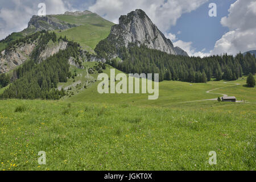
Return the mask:
{"type": "Polygon", "coordinates": [[[109,38],[116,46],[128,46],[135,43],[138,46],[144,44],[148,48],[157,49],[176,55],[174,45],[155,26],[142,10],[135,10],[127,16],[119,18],[119,24],[112,27],[109,38]]]}

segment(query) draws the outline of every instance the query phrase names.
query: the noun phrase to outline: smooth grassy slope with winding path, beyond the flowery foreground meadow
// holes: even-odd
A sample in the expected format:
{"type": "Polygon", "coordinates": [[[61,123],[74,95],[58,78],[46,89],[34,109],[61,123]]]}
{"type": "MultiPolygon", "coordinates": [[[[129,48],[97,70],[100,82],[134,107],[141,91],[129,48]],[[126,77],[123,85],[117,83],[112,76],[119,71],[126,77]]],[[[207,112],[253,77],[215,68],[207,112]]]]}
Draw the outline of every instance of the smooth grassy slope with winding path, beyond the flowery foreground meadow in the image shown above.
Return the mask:
{"type": "MultiPolygon", "coordinates": [[[[110,75],[110,68],[107,67],[105,73],[110,75]]],[[[120,73],[115,69],[115,75],[120,73]]],[[[97,80],[97,75],[94,75],[97,80]]],[[[256,103],[256,88],[245,88],[246,77],[242,77],[236,81],[209,81],[207,84],[191,84],[180,81],[163,81],[159,83],[159,98],[158,100],[148,100],[148,94],[99,94],[97,86],[100,81],[93,84],[88,89],[75,94],[68,101],[78,102],[93,102],[105,104],[131,104],[140,106],[165,106],[165,107],[184,107],[182,102],[209,100],[212,98],[222,97],[222,94],[228,96],[236,96],[237,100],[247,100],[248,102],[256,103]],[[217,89],[217,90],[213,90],[217,89]],[[182,90],[182,92],[181,92],[182,90]],[[210,94],[207,91],[213,90],[210,94]],[[220,94],[218,94],[220,93],[220,94]],[[89,97],[88,97],[89,96],[89,97]]],[[[197,102],[192,102],[196,104],[197,102]]],[[[200,103],[201,104],[201,103],[200,103]]]]}

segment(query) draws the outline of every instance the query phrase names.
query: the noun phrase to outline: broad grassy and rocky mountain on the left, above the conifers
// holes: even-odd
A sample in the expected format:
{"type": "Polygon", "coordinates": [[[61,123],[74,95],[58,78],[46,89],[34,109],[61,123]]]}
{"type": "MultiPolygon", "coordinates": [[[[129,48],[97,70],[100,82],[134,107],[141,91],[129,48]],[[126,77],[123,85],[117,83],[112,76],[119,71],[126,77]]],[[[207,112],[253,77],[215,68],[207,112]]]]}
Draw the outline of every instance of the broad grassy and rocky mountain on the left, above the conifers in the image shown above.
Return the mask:
{"type": "MultiPolygon", "coordinates": [[[[38,62],[67,48],[67,41],[47,41],[39,44],[40,31],[55,32],[56,40],[60,37],[80,44],[84,51],[94,53],[98,42],[105,39],[114,23],[101,18],[90,11],[66,12],[60,15],[32,16],[28,27],[21,32],[14,32],[0,41],[0,73],[7,73],[31,59],[37,48],[38,62]]],[[[81,56],[81,55],[80,55],[81,56]]],[[[82,56],[81,60],[85,59],[82,56]]],[[[70,64],[74,64],[69,60],[70,64]]]]}

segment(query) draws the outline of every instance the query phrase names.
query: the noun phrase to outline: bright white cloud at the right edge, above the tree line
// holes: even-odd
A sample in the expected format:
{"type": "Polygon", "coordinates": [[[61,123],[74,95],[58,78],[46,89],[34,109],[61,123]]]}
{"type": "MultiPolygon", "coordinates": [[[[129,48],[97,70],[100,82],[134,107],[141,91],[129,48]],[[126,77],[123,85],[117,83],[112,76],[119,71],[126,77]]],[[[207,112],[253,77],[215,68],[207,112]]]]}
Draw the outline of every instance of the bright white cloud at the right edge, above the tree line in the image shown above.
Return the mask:
{"type": "Polygon", "coordinates": [[[214,46],[212,55],[227,52],[236,55],[256,49],[256,2],[237,0],[230,6],[229,15],[221,19],[221,24],[229,28],[214,46]]]}

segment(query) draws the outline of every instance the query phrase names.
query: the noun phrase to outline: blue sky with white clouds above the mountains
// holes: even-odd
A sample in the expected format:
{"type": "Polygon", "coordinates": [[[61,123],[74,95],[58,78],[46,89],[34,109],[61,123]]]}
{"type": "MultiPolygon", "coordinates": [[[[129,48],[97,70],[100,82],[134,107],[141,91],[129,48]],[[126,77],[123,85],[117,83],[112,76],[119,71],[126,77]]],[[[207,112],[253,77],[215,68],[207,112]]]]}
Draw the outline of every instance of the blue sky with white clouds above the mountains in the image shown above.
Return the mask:
{"type": "Polygon", "coordinates": [[[46,4],[47,14],[90,10],[114,23],[142,9],[189,56],[256,49],[256,0],[0,0],[0,39],[26,28],[39,3],[46,4]],[[217,16],[209,16],[210,3],[216,4],[217,16]]]}

